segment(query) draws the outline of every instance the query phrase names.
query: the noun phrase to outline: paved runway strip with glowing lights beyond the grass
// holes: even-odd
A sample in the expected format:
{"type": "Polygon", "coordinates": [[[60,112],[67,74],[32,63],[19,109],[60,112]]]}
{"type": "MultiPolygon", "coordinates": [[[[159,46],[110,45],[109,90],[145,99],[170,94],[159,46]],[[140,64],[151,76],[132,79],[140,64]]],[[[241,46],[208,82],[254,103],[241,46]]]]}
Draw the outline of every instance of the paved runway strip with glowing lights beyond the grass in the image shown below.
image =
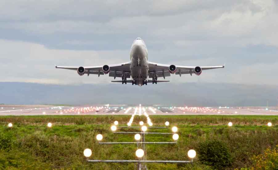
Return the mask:
{"type": "MultiPolygon", "coordinates": [[[[148,115],[277,115],[276,107],[141,106],[148,115]]],[[[140,107],[140,108],[141,108],[140,107]]],[[[143,114],[138,105],[0,105],[0,116],[33,115],[132,115],[143,114]],[[137,108],[137,109],[136,109],[137,108]]]]}

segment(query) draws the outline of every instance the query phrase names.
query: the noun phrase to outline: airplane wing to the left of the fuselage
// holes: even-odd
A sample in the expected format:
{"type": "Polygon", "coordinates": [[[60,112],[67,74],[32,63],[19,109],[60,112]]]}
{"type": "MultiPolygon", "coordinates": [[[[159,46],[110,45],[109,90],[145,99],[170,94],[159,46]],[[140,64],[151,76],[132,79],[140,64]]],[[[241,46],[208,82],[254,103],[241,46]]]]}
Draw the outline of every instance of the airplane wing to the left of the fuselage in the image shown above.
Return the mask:
{"type": "MultiPolygon", "coordinates": [[[[131,62],[126,62],[126,63],[121,63],[121,64],[112,64],[108,65],[109,66],[109,76],[110,77],[122,77],[122,74],[124,73],[127,78],[130,78],[130,64],[131,62]]],[[[103,66],[86,66],[84,67],[85,72],[84,74],[98,74],[99,75],[104,75],[104,72],[102,70],[103,66]]],[[[56,66],[56,69],[69,69],[69,70],[76,70],[79,67],[67,67],[67,66],[56,66]]]]}

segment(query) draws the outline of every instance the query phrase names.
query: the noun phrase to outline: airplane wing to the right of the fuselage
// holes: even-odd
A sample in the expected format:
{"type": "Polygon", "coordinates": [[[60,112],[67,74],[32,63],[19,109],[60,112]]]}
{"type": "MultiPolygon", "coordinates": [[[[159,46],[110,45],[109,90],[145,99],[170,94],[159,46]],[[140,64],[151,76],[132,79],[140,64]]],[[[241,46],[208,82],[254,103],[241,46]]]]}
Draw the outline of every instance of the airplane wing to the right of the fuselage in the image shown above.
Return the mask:
{"type": "MultiPolygon", "coordinates": [[[[168,77],[170,76],[169,66],[167,64],[159,64],[159,63],[153,63],[149,62],[149,77],[155,77],[155,74],[157,77],[168,77]]],[[[175,74],[182,75],[182,74],[192,74],[194,73],[195,66],[182,66],[182,65],[175,65],[176,66],[176,72],[175,74]]],[[[218,68],[224,68],[225,65],[220,66],[200,66],[201,70],[209,70],[209,69],[218,69],[218,68]]]]}

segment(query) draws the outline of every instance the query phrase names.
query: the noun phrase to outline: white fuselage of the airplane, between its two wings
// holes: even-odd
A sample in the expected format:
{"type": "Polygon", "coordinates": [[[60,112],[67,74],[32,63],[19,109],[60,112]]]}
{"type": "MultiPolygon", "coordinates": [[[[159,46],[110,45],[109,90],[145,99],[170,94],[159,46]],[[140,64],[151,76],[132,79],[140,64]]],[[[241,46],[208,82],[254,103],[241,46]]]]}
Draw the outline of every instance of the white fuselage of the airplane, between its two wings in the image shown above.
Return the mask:
{"type": "Polygon", "coordinates": [[[134,40],[130,50],[130,60],[131,79],[135,84],[142,86],[149,78],[149,64],[148,50],[141,38],[134,40]]]}

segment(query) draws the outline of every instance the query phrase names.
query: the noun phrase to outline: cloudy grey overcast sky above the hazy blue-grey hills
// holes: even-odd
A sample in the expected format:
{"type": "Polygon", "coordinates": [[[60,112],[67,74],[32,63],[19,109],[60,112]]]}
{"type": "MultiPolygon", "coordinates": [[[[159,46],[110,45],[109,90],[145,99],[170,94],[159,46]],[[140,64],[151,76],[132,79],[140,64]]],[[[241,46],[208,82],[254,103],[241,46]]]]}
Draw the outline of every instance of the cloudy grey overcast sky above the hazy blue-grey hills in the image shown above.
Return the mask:
{"type": "MultiPolygon", "coordinates": [[[[277,85],[277,1],[0,1],[0,81],[110,83],[54,65],[93,66],[129,61],[141,37],[149,61],[222,65],[172,83],[277,85]]],[[[168,77],[167,77],[168,78],[168,77]]]]}

